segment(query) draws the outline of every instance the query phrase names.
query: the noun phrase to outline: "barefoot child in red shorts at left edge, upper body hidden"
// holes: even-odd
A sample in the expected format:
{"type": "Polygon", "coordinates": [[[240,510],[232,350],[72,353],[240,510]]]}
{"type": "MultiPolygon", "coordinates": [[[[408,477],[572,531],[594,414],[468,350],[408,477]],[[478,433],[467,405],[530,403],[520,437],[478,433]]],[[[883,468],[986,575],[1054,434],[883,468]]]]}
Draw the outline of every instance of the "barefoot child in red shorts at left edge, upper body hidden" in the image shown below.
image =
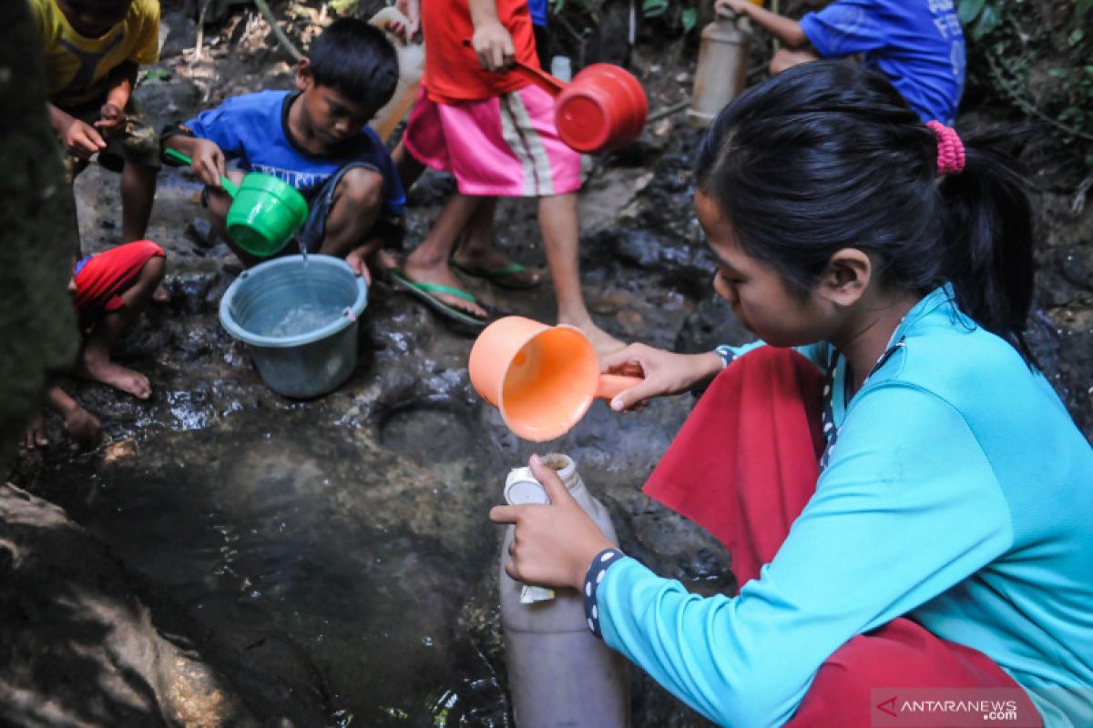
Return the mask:
{"type": "MultiPolygon", "coordinates": [[[[151,240],[137,240],[75,263],[69,291],[84,335],[75,366],[78,377],[109,384],[138,399],[152,394],[148,377],[114,362],[110,349],[163,281],[164,259],[163,248],[151,240]]],[[[73,450],[98,444],[98,419],[61,387],[50,387],[46,402],[60,415],[73,450]]],[[[40,417],[27,429],[23,444],[28,450],[48,444],[40,417]]]]}

